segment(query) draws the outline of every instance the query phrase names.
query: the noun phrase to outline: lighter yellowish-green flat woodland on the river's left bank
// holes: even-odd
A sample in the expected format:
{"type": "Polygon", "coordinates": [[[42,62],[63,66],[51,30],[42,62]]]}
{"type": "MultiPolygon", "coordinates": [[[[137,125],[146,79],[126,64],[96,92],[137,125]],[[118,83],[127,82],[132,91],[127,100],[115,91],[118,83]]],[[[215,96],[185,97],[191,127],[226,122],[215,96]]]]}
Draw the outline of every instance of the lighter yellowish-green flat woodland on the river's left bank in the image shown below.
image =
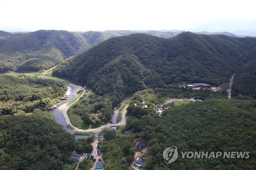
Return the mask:
{"type": "Polygon", "coordinates": [[[0,115],[46,110],[65,95],[66,86],[53,80],[0,75],[0,115]]]}

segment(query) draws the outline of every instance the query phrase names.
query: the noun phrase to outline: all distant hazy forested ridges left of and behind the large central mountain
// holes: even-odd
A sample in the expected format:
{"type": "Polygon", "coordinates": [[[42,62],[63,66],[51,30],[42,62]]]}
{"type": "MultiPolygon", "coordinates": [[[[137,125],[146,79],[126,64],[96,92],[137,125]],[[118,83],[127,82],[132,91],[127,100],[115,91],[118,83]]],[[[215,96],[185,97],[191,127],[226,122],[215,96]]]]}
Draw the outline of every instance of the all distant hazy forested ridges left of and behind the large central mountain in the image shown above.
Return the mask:
{"type": "MultiPolygon", "coordinates": [[[[84,33],[39,30],[29,33],[0,31],[0,73],[39,71],[59,64],[63,59],[88,50],[111,37],[139,33],[135,31],[88,31],[84,33]]],[[[164,38],[180,32],[148,31],[164,38]]]]}

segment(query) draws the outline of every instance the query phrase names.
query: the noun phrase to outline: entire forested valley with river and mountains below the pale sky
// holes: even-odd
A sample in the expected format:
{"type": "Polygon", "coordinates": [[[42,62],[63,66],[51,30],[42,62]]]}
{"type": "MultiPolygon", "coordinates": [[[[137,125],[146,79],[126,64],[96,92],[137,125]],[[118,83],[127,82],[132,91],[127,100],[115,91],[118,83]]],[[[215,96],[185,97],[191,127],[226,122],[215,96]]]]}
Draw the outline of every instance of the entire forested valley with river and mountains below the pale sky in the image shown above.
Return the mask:
{"type": "Polygon", "coordinates": [[[255,167],[255,38],[0,33],[0,169],[88,169],[102,160],[119,170],[138,158],[140,169],[255,167]],[[135,153],[139,140],[146,153],[135,153]],[[168,164],[163,151],[172,146],[249,159],[179,155],[168,164]],[[82,161],[70,157],[74,150],[82,161]]]}

